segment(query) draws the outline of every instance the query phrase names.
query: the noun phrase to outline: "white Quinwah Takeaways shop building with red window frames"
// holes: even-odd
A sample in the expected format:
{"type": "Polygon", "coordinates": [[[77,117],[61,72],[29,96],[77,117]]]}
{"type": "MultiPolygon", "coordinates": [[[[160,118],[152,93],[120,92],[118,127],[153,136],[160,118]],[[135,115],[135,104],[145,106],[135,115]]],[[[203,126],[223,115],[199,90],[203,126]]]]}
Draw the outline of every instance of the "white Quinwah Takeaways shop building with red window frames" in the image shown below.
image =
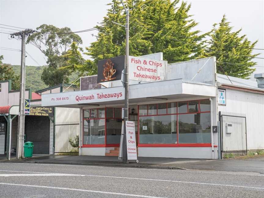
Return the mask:
{"type": "MultiPolygon", "coordinates": [[[[103,68],[115,63],[109,60],[103,68]]],[[[217,74],[215,57],[167,64],[157,53],[130,57],[130,62],[129,120],[137,126],[138,156],[218,159],[220,150],[228,149],[221,134],[232,145],[246,141],[233,152],[264,149],[264,89],[257,82],[217,74]],[[148,69],[150,60],[156,71],[148,69]],[[239,120],[219,122],[219,112],[246,115],[246,126],[239,120]]],[[[115,74],[115,67],[106,74],[115,74]]],[[[108,79],[116,78],[113,74],[108,79]]],[[[124,88],[121,80],[98,83],[101,79],[98,73],[81,79],[80,91],[42,95],[42,106],[80,109],[79,155],[118,153],[124,88]]]]}

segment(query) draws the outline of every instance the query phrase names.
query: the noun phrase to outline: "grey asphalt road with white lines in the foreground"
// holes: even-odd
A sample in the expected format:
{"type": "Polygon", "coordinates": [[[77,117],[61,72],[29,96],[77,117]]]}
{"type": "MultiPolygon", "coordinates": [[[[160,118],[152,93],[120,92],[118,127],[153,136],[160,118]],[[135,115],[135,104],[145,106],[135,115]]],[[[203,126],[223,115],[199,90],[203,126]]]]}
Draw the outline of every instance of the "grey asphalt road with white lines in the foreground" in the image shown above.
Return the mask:
{"type": "Polygon", "coordinates": [[[0,163],[0,197],[263,198],[264,174],[0,163]]]}

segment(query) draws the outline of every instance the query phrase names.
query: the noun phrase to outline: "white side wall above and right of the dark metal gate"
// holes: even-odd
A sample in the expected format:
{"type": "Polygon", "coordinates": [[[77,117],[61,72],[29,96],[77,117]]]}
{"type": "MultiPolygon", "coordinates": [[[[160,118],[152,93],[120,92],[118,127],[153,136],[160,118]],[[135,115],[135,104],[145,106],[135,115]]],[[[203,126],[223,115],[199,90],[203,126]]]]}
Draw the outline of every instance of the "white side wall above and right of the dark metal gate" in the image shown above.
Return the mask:
{"type": "Polygon", "coordinates": [[[248,150],[264,149],[263,94],[226,89],[226,106],[218,111],[246,114],[248,150]]]}

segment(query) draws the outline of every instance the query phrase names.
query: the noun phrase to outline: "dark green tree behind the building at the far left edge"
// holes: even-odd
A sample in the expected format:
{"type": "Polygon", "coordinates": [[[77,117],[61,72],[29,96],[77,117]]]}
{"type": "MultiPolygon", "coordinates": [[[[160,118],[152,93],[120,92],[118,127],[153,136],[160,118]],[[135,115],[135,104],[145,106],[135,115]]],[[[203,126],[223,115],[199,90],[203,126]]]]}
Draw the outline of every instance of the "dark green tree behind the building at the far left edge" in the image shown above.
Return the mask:
{"type": "Polygon", "coordinates": [[[2,80],[11,80],[12,89],[18,90],[20,88],[20,76],[15,75],[11,64],[3,63],[3,55],[0,56],[0,81],[2,80]]]}

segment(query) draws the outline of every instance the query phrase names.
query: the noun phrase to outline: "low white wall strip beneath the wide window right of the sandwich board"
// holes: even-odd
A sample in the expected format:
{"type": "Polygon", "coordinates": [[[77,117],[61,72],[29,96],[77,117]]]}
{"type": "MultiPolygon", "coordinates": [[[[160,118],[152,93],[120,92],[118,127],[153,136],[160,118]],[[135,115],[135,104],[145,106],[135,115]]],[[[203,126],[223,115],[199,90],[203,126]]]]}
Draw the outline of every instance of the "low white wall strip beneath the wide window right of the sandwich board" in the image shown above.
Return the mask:
{"type": "MultiPolygon", "coordinates": [[[[214,152],[217,156],[217,151],[214,152]]],[[[211,147],[138,147],[139,157],[212,159],[211,147]]]]}

